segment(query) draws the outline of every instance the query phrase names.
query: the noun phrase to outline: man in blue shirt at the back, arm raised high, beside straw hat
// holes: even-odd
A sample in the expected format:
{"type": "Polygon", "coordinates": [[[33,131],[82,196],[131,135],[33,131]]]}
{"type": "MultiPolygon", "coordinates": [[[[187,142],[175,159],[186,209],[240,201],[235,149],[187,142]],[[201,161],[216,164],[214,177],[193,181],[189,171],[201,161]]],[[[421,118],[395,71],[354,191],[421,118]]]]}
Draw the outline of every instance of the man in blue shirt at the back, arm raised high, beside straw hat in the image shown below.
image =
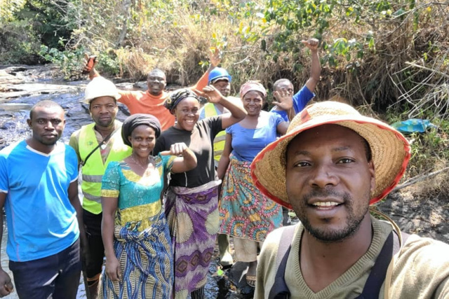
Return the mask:
{"type": "Polygon", "coordinates": [[[279,79],[273,85],[274,90],[274,106],[272,112],[278,113],[286,121],[293,119],[297,113],[300,113],[302,109],[307,105],[307,103],[315,96],[314,90],[316,84],[320,81],[321,66],[320,59],[318,57],[318,39],[309,39],[307,41],[301,41],[304,46],[310,49],[311,52],[311,71],[310,78],[307,80],[306,84],[293,95],[293,84],[288,79],[279,79]],[[293,95],[293,111],[290,111],[290,116],[282,109],[282,105],[288,104],[283,101],[281,97],[292,96],[293,95]]]}

